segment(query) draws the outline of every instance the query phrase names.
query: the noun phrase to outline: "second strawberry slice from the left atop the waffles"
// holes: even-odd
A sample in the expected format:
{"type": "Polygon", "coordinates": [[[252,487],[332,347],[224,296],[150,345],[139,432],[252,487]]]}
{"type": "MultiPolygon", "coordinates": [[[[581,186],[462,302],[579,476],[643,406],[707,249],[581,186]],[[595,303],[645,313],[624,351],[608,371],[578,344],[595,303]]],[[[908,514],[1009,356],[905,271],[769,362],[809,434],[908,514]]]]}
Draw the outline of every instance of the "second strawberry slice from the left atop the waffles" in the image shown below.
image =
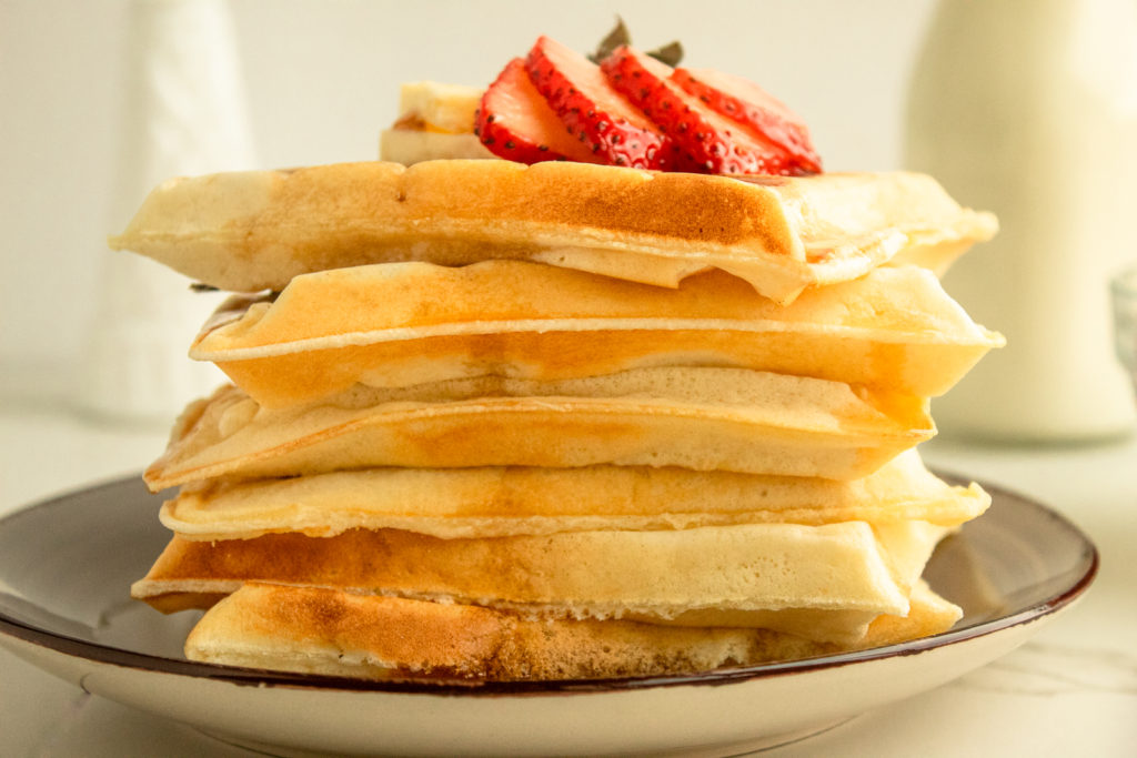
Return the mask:
{"type": "Polygon", "coordinates": [[[568,133],[605,163],[673,168],[673,145],[612,89],[596,64],[547,36],[537,40],[525,64],[568,133]]]}

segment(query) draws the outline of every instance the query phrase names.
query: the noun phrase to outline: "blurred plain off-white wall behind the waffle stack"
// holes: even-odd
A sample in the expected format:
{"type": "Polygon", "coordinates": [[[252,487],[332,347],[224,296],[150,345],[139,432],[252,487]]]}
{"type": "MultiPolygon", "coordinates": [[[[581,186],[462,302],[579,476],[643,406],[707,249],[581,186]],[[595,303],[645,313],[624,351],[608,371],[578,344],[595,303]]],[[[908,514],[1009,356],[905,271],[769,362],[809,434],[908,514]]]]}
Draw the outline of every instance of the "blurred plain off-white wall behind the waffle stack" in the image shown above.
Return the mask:
{"type": "MultiPolygon", "coordinates": [[[[542,33],[591,50],[620,13],[638,45],[679,38],[687,64],[750,77],[786,100],[811,125],[827,168],[888,169],[902,160],[905,89],[933,5],[233,0],[230,8],[263,167],[372,159],[379,131],[396,117],[400,82],[484,85],[542,33]]],[[[83,381],[76,373],[100,259],[127,255],[109,252],[105,239],[126,220],[111,194],[128,3],[2,0],[0,9],[0,397],[9,407],[56,403],[83,381]]],[[[192,330],[169,335],[179,350],[191,338],[192,330]]]]}

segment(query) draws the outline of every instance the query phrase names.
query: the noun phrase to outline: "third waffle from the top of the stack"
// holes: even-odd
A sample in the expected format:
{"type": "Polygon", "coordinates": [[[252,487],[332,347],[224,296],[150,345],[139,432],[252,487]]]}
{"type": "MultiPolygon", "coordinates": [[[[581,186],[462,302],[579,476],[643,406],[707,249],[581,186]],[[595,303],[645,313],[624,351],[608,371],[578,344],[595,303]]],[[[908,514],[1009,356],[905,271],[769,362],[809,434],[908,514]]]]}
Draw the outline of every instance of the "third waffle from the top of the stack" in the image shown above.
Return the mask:
{"type": "Polygon", "coordinates": [[[230,386],[186,410],[146,478],[596,464],[855,478],[933,433],[924,400],[740,368],[359,388],[277,410],[230,386]]]}

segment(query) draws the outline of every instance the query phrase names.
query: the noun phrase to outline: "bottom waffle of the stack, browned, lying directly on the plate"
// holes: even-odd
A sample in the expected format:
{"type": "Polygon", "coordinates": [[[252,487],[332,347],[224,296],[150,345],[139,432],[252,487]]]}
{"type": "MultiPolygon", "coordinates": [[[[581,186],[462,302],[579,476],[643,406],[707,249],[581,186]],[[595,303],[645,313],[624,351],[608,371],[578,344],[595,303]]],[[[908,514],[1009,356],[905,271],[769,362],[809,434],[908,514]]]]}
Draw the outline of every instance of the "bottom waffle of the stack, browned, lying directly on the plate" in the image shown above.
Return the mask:
{"type": "Polygon", "coordinates": [[[880,616],[860,642],[837,645],[770,630],[526,619],[478,606],[249,583],[206,613],[185,652],[205,663],[370,680],[653,676],[873,648],[943,632],[958,617],[921,582],[906,616],[880,616]]]}

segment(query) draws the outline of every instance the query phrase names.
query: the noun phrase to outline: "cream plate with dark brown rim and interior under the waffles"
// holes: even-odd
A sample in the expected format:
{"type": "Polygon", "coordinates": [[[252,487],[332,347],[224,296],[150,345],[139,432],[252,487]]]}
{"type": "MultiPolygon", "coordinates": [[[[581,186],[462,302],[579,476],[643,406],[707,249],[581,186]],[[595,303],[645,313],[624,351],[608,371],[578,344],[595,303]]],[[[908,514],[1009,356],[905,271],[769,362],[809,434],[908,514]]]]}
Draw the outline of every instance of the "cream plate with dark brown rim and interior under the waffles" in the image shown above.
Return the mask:
{"type": "Polygon", "coordinates": [[[0,519],[0,644],[96,694],[277,755],[737,755],[939,686],[1013,650],[1085,592],[1097,570],[1090,541],[1053,510],[985,486],[991,508],[945,540],[924,573],[964,617],[944,634],[855,653],[479,686],[197,664],[181,653],[196,615],[163,616],[128,597],[169,536],[161,497],[136,477],[0,519]]]}

